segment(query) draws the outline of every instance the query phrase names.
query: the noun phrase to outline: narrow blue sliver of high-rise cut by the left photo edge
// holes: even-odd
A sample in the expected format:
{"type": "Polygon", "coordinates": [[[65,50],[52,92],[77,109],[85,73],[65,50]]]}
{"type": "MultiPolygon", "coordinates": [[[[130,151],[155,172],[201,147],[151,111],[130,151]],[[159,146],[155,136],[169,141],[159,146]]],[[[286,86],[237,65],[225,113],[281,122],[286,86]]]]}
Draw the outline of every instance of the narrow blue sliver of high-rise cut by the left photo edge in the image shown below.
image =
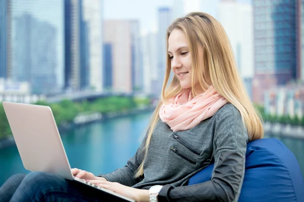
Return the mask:
{"type": "Polygon", "coordinates": [[[0,78],[7,77],[7,0],[0,1],[0,78]]]}

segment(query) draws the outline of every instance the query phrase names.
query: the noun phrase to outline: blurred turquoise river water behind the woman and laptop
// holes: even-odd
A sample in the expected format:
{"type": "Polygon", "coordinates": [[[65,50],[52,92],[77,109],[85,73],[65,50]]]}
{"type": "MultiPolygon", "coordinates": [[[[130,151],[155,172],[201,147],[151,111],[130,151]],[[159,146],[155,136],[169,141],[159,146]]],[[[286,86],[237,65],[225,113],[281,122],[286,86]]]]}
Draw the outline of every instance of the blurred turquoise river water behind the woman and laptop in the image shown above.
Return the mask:
{"type": "MultiPolygon", "coordinates": [[[[149,118],[150,113],[139,114],[62,132],[62,142],[70,166],[90,171],[95,175],[123,167],[135,154],[149,118]]],[[[293,152],[304,174],[304,140],[289,137],[279,139],[293,152]]],[[[28,173],[23,168],[16,146],[0,149],[0,172],[0,185],[13,174],[28,173]]]]}

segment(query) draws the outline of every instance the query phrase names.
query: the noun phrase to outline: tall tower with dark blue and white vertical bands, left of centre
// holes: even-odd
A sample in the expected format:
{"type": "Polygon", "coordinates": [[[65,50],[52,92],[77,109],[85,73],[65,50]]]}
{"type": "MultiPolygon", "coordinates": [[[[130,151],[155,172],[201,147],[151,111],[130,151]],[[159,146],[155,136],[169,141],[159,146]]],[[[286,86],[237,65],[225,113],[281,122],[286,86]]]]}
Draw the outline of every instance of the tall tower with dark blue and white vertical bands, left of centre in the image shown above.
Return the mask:
{"type": "Polygon", "coordinates": [[[65,88],[103,89],[102,1],[65,0],[65,88]]]}

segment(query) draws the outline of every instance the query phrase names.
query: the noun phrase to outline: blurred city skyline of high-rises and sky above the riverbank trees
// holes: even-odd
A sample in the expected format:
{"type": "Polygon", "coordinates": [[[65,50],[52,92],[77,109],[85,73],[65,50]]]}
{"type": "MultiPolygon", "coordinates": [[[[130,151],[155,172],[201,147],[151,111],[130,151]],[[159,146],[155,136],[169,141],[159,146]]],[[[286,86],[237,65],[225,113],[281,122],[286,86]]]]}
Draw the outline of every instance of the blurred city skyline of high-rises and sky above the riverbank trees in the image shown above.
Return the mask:
{"type": "MultiPolygon", "coordinates": [[[[112,7],[115,2],[124,6],[112,1],[112,7]]],[[[105,18],[109,0],[0,1],[0,100],[53,102],[83,93],[158,98],[166,29],[176,18],[202,11],[223,25],[253,102],[271,115],[302,118],[304,1],[155,2],[156,25],[149,26],[141,24],[144,16],[105,18]]],[[[139,1],[129,1],[134,3],[139,1]]],[[[143,9],[150,8],[137,8],[143,9]]]]}

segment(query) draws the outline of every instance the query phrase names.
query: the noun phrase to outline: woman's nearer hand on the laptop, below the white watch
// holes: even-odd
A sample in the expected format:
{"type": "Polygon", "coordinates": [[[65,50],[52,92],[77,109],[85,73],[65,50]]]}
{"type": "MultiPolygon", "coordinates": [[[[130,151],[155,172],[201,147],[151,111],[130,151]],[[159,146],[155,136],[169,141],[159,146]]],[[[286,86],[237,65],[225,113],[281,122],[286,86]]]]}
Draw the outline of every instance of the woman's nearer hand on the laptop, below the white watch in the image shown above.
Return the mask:
{"type": "Polygon", "coordinates": [[[129,186],[122,185],[118,182],[108,182],[104,180],[89,180],[93,184],[109,189],[121,195],[132,198],[136,202],[149,202],[149,191],[143,189],[136,189],[129,186]]]}

